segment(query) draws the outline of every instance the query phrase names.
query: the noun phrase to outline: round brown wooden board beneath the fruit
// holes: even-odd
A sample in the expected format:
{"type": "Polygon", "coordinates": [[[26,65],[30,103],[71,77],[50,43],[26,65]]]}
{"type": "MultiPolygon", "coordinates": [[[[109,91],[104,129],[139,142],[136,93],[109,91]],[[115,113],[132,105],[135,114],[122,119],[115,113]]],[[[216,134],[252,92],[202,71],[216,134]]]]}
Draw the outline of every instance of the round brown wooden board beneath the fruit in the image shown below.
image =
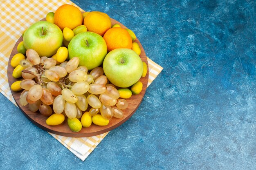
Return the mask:
{"type": "MultiPolygon", "coordinates": [[[[43,19],[45,20],[45,19],[43,19]]],[[[113,24],[119,24],[122,28],[126,28],[126,26],[124,26],[123,24],[121,24],[120,22],[111,19],[112,25],[113,24]]],[[[11,52],[10,58],[9,58],[9,62],[8,62],[8,70],[7,70],[7,74],[8,74],[8,82],[9,82],[9,86],[11,86],[11,84],[13,82],[16,82],[18,80],[21,80],[22,77],[20,79],[15,79],[12,77],[12,72],[13,72],[13,67],[10,65],[11,59],[13,57],[13,55],[17,54],[17,46],[18,44],[23,41],[22,37],[19,38],[19,40],[16,42],[15,46],[13,47],[13,50],[11,52]]],[[[141,55],[139,55],[141,57],[141,60],[146,62],[147,66],[148,66],[148,61],[147,61],[147,57],[145,54],[145,51],[143,49],[143,47],[141,46],[141,43],[139,42],[139,40],[136,38],[135,42],[137,42],[141,48],[141,55]]],[[[97,126],[94,125],[92,123],[92,125],[89,128],[82,128],[82,130],[80,130],[79,132],[72,132],[70,130],[70,128],[67,125],[67,117],[65,117],[65,121],[57,126],[48,126],[45,123],[45,120],[48,118],[44,115],[41,115],[38,112],[31,112],[29,110],[29,106],[21,106],[20,102],[19,102],[19,98],[20,98],[20,92],[14,92],[11,91],[13,98],[15,99],[16,103],[18,104],[18,107],[20,108],[20,110],[22,111],[22,113],[24,113],[24,115],[36,126],[38,126],[39,128],[42,128],[43,130],[46,130],[48,132],[52,132],[54,134],[57,135],[62,135],[62,136],[66,136],[66,137],[90,137],[90,136],[95,136],[95,135],[100,135],[102,133],[108,132],[114,128],[117,128],[118,126],[120,126],[121,124],[123,124],[125,121],[127,121],[132,115],[133,113],[135,113],[135,111],[137,110],[137,108],[139,107],[139,104],[141,103],[145,92],[146,92],[146,87],[148,84],[148,73],[146,75],[146,77],[141,77],[140,81],[143,83],[143,88],[141,93],[139,93],[138,95],[132,95],[132,97],[130,97],[129,99],[127,99],[129,106],[126,110],[123,110],[124,112],[124,117],[122,117],[121,119],[117,119],[115,117],[113,117],[110,121],[109,124],[107,126],[97,126]]]]}

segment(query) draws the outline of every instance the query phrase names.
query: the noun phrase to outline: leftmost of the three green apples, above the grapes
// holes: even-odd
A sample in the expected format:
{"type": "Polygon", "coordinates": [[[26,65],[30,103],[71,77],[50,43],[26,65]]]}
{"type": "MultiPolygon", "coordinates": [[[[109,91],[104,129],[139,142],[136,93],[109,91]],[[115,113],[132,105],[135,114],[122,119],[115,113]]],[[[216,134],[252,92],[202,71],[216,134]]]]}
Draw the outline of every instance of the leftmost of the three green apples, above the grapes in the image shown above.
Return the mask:
{"type": "Polygon", "coordinates": [[[61,29],[51,22],[38,21],[24,33],[23,44],[26,49],[34,49],[40,57],[51,57],[62,45],[61,29]]]}

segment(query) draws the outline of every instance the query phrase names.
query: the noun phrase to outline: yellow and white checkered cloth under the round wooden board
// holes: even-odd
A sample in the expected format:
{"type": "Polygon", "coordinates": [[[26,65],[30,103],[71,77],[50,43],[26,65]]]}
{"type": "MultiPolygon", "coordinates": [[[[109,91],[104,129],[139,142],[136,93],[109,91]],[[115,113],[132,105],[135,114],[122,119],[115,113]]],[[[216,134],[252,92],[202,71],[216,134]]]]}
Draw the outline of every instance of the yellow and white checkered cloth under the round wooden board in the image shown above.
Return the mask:
{"type": "MultiPolygon", "coordinates": [[[[45,18],[48,12],[56,11],[56,9],[63,4],[72,4],[76,6],[76,4],[69,0],[7,0],[2,1],[0,4],[0,89],[1,93],[15,105],[16,102],[11,95],[7,79],[7,65],[13,46],[16,44],[25,29],[27,29],[31,24],[45,18]]],[[[83,10],[81,9],[81,11],[83,10]]],[[[163,68],[149,58],[148,67],[149,86],[163,68]]],[[[64,137],[52,133],[49,134],[74,153],[74,155],[84,161],[108,134],[108,132],[93,137],[80,138],[64,137]]]]}

